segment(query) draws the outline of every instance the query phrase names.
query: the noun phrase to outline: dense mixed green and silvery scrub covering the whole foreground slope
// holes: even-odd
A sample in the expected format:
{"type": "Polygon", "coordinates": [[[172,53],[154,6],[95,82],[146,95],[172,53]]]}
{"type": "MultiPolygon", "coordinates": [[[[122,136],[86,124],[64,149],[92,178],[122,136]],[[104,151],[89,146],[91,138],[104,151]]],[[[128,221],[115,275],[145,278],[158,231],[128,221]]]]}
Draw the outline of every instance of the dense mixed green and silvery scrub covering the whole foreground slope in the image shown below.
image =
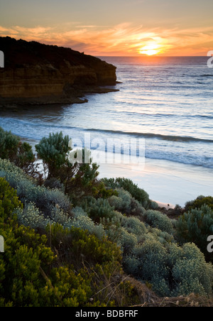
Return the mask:
{"type": "Polygon", "coordinates": [[[1,305],[132,305],[144,283],[159,296],[212,295],[210,207],[170,219],[131,180],[99,181],[96,164],[69,164],[62,134],[46,139],[43,184],[0,159],[1,305]],[[50,139],[57,160],[49,165],[50,139]]]}

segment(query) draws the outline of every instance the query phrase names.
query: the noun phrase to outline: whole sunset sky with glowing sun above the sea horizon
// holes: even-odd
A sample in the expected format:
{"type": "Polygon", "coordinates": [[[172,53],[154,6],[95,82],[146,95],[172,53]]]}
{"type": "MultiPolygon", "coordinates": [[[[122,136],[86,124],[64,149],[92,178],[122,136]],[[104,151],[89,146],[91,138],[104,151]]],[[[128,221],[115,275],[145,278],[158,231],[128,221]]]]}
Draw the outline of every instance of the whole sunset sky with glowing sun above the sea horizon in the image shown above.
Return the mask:
{"type": "Polygon", "coordinates": [[[89,55],[213,50],[212,0],[0,0],[0,9],[0,36],[89,55]]]}

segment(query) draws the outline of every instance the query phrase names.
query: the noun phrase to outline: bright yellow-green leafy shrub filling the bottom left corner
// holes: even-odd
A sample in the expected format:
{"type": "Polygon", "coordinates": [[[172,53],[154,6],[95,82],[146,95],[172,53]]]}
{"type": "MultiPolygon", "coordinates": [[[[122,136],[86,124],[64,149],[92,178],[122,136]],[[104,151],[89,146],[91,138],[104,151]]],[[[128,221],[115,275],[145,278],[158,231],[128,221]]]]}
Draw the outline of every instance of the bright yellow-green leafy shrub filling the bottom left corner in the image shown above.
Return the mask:
{"type": "MultiPolygon", "coordinates": [[[[72,267],[54,267],[57,259],[46,246],[46,236],[14,221],[0,227],[0,232],[5,239],[5,253],[0,256],[1,306],[87,306],[94,294],[92,277],[72,267]]],[[[99,302],[94,299],[93,304],[99,302]]]]}

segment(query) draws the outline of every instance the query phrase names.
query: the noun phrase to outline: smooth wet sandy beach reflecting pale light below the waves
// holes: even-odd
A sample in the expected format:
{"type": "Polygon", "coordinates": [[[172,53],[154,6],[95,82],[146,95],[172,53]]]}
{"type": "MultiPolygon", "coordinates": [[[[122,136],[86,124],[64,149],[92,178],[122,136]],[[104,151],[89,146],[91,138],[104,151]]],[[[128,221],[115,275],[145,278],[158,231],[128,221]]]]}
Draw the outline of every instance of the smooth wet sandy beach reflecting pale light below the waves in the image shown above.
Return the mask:
{"type": "Polygon", "coordinates": [[[184,207],[185,202],[199,195],[212,195],[213,174],[210,168],[185,165],[168,160],[146,158],[144,166],[126,164],[102,164],[100,178],[124,177],[133,180],[148,192],[159,205],[169,208],[184,207]],[[168,206],[169,205],[169,206],[168,206]]]}

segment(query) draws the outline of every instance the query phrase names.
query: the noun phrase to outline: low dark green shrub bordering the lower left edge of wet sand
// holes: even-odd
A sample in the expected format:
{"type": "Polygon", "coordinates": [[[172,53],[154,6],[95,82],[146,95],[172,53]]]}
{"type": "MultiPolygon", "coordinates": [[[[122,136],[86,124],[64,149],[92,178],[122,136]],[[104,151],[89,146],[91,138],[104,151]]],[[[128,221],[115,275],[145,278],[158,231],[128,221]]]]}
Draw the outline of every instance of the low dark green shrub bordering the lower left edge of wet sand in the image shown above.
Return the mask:
{"type": "Polygon", "coordinates": [[[123,188],[128,191],[145,209],[150,207],[151,201],[149,200],[148,193],[139,188],[138,185],[134,184],[132,180],[127,178],[103,178],[102,181],[107,187],[111,187],[114,190],[116,188],[123,188]]]}

